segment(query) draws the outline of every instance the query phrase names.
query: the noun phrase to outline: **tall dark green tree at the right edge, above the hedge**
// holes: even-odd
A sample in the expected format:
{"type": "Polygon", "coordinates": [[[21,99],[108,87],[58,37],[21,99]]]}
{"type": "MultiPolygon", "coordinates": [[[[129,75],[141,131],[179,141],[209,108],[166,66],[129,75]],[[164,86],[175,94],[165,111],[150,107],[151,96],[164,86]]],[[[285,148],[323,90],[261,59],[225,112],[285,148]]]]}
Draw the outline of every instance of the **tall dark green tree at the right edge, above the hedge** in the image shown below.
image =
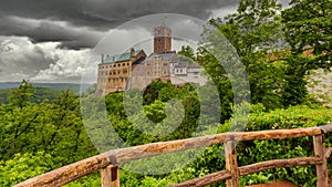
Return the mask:
{"type": "Polygon", "coordinates": [[[331,67],[332,1],[292,0],[282,11],[286,41],[291,53],[288,56],[284,80],[283,105],[305,101],[305,75],[311,70],[331,67]]]}

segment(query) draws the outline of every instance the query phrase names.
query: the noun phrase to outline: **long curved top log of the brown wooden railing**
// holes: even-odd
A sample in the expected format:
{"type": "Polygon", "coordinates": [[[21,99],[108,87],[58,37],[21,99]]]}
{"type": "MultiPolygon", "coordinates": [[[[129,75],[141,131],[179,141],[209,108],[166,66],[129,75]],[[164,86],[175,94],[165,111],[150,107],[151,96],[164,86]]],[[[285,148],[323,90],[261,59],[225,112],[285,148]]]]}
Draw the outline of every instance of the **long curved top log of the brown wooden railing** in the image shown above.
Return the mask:
{"type": "Polygon", "coordinates": [[[222,133],[172,142],[152,143],[135,147],[118,148],[28,179],[15,185],[15,187],[62,186],[85,175],[95,173],[98,169],[105,168],[111,164],[122,164],[167,153],[222,144],[226,142],[226,139],[229,139],[229,137],[232,137],[236,142],[252,139],[282,139],[290,137],[315,136],[329,132],[332,132],[332,123],[324,126],[309,128],[222,133]]]}

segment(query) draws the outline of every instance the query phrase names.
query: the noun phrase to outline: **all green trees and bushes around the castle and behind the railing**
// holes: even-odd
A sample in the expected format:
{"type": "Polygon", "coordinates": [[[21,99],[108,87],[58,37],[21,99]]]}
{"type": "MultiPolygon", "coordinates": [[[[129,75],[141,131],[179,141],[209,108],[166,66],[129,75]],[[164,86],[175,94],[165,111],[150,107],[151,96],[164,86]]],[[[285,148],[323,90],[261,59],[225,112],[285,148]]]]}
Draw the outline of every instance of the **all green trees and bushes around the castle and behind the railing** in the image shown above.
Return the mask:
{"type": "MultiPolygon", "coordinates": [[[[220,106],[205,108],[200,104],[217,100],[199,98],[197,90],[211,92],[208,87],[194,84],[175,86],[170,82],[156,81],[144,91],[142,102],[147,120],[160,127],[153,134],[141,131],[141,127],[151,128],[148,123],[147,126],[136,125],[146,124],[139,113],[131,117],[126,115],[126,103],[123,102],[125,93],[122,92],[111,93],[102,100],[94,96],[93,87],[89,93],[79,95],[71,90],[55,92],[35,89],[25,80],[15,90],[0,91],[0,94],[8,95],[8,100],[0,101],[0,186],[12,186],[98,154],[98,147],[89,137],[89,126],[82,118],[82,113],[86,112],[81,108],[82,101],[103,102],[107,120],[129,146],[193,137],[198,135],[197,131],[212,134],[228,132],[234,129],[236,104],[248,106],[250,112],[246,131],[309,127],[331,122],[332,110],[314,101],[307,89],[307,75],[312,71],[330,71],[331,18],[331,0],[292,0],[288,9],[282,9],[276,0],[241,0],[235,13],[210,19],[199,48],[183,46],[178,53],[197,60],[205,73],[209,74],[209,83],[217,87],[220,106]],[[228,71],[220,65],[220,58],[215,55],[229,56],[231,52],[220,51],[222,43],[217,39],[220,34],[232,44],[241,60],[250,93],[232,90],[228,71]],[[245,103],[234,103],[235,96],[245,103]],[[166,123],[165,126],[167,102],[174,98],[183,106],[175,113],[184,114],[184,117],[178,126],[172,126],[177,122],[166,123]],[[250,106],[247,105],[248,101],[251,102],[250,106]],[[209,113],[201,113],[204,110],[209,113]],[[212,116],[220,116],[217,123],[212,116]],[[204,125],[199,125],[201,123],[204,125]],[[165,131],[168,133],[163,133],[165,131]]],[[[134,92],[131,94],[135,95],[134,92]]],[[[330,136],[325,142],[332,144],[330,136]]],[[[221,170],[225,168],[221,150],[221,145],[208,147],[203,156],[169,174],[151,176],[122,169],[121,184],[167,186],[221,170]]],[[[309,138],[246,142],[237,146],[237,152],[240,165],[313,154],[309,138]]],[[[315,172],[310,166],[266,170],[241,177],[241,186],[279,179],[289,179],[300,186],[314,186],[315,172]]],[[[100,186],[100,176],[93,174],[68,186],[100,186]]]]}

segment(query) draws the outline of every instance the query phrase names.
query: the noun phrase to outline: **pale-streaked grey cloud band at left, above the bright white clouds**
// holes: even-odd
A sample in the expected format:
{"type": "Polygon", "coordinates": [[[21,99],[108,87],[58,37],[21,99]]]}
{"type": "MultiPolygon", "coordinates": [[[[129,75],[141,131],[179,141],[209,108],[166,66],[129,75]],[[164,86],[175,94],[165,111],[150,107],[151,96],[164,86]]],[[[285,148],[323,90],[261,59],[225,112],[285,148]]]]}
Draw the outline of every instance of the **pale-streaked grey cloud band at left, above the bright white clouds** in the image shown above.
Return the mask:
{"type": "Polygon", "coordinates": [[[0,18],[0,35],[29,37],[38,42],[62,42],[70,49],[93,48],[103,32],[74,27],[64,21],[33,20],[21,17],[0,18]]]}

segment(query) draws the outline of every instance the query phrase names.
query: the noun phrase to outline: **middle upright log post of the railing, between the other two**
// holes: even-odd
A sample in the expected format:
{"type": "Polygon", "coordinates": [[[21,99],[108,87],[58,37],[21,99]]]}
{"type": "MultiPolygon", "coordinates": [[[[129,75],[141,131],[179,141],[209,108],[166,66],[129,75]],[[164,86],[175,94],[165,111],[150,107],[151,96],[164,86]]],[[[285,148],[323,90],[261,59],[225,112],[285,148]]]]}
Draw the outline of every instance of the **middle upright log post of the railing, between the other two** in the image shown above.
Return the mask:
{"type": "Polygon", "coordinates": [[[237,153],[234,138],[226,141],[225,146],[225,158],[226,158],[226,170],[231,175],[230,179],[226,180],[227,187],[239,187],[239,169],[237,162],[237,153]]]}

